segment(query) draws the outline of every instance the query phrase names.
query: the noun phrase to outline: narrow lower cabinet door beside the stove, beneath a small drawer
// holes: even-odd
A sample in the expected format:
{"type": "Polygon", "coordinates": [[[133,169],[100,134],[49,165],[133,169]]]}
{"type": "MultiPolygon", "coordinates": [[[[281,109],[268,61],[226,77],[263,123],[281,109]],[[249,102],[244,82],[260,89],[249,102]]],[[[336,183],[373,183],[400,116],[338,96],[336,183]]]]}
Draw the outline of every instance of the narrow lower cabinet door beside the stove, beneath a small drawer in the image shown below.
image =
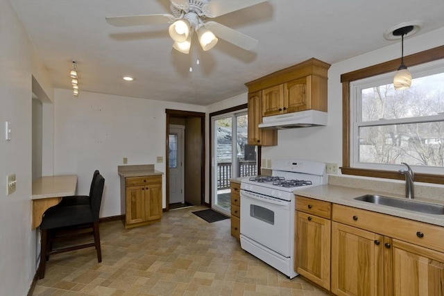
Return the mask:
{"type": "Polygon", "coordinates": [[[296,211],[296,272],[330,290],[331,221],[296,211]]]}

